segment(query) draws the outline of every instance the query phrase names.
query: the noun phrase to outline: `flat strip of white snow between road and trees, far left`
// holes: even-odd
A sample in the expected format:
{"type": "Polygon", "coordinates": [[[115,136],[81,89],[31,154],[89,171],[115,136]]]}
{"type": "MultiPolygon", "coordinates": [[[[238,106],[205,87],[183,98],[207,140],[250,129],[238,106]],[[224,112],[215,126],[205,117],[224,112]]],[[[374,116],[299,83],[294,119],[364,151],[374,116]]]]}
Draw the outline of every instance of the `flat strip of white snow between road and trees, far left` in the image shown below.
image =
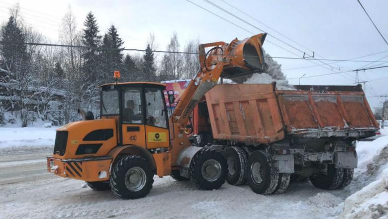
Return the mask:
{"type": "Polygon", "coordinates": [[[54,146],[55,128],[0,128],[0,148],[54,146]]]}

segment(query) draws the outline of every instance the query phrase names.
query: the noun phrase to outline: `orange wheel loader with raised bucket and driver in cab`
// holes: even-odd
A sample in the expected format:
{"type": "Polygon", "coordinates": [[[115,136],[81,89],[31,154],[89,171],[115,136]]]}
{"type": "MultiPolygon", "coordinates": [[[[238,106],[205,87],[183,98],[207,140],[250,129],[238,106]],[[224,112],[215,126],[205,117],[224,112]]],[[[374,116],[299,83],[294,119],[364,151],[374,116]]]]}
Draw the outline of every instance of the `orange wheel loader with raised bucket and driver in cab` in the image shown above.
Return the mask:
{"type": "MultiPolygon", "coordinates": [[[[203,190],[225,182],[227,162],[209,147],[193,146],[185,133],[194,107],[220,77],[266,70],[262,45],[266,33],[231,43],[199,45],[200,71],[190,81],[171,116],[165,84],[115,83],[99,86],[100,116],[80,110],[83,120],[57,129],[47,168],[61,177],[86,181],[93,190],[111,190],[123,199],[146,196],[154,175],[191,180],[203,190]],[[211,47],[211,48],[210,48],[211,47]],[[208,49],[206,52],[205,49],[208,49]]],[[[231,91],[233,92],[233,91],[231,91]]],[[[174,103],[174,92],[168,91],[174,103]]]]}

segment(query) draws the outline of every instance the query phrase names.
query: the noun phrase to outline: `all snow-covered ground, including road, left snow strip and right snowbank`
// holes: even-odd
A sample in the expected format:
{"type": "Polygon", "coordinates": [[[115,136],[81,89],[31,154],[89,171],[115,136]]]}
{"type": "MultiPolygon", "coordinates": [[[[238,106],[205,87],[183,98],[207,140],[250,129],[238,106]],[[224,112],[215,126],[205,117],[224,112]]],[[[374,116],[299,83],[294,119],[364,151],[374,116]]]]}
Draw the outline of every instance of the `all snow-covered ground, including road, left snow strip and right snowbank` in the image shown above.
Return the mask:
{"type": "Polygon", "coordinates": [[[82,181],[46,173],[44,155],[19,155],[29,145],[49,155],[55,128],[0,128],[0,219],[387,218],[388,129],[381,132],[375,141],[358,143],[359,168],[344,190],[324,191],[304,182],[291,185],[285,194],[264,196],[247,185],[199,191],[190,182],[155,177],[147,197],[120,200],[110,191],[96,192],[82,181]]]}

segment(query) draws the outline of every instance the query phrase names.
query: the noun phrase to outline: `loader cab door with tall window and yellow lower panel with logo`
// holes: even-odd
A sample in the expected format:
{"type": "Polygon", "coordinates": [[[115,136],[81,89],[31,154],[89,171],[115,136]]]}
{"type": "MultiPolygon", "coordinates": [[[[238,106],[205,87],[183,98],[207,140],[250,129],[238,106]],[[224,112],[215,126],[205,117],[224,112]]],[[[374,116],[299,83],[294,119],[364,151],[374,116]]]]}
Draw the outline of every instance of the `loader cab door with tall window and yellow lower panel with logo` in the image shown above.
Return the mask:
{"type": "Polygon", "coordinates": [[[147,149],[170,146],[168,115],[163,87],[145,87],[147,149]]]}

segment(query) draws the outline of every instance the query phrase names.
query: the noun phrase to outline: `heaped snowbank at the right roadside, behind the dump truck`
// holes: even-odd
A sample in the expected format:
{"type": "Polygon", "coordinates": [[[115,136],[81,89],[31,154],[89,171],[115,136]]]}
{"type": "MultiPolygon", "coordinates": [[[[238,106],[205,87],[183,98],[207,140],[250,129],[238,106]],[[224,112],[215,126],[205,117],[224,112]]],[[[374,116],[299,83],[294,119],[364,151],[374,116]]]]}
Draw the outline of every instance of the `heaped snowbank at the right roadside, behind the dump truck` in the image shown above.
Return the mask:
{"type": "Polygon", "coordinates": [[[388,130],[372,142],[357,145],[359,166],[341,218],[388,218],[388,130]]]}

